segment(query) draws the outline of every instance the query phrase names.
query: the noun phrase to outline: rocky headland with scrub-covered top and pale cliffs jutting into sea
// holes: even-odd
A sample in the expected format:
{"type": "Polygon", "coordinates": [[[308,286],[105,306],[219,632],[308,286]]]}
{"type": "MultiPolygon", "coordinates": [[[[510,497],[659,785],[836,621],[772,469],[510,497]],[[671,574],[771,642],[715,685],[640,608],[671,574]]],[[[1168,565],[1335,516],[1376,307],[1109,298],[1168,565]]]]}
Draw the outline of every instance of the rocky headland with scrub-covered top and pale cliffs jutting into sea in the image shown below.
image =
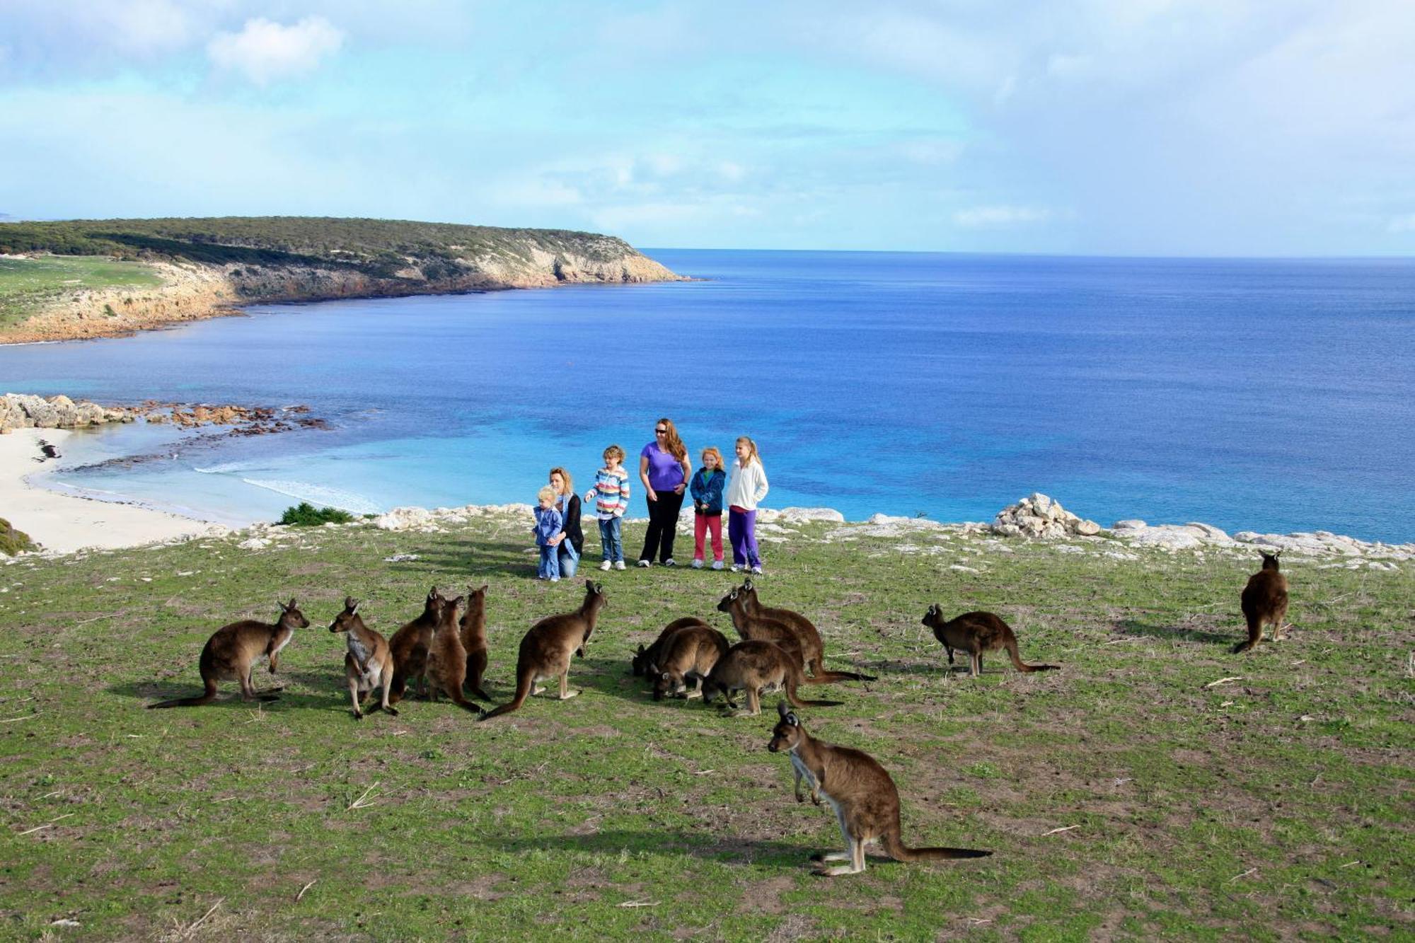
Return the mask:
{"type": "Polygon", "coordinates": [[[108,256],[161,285],[57,283],[0,343],[112,337],[242,304],[682,280],[623,239],[389,219],[233,217],[0,225],[11,258],[108,256]]]}

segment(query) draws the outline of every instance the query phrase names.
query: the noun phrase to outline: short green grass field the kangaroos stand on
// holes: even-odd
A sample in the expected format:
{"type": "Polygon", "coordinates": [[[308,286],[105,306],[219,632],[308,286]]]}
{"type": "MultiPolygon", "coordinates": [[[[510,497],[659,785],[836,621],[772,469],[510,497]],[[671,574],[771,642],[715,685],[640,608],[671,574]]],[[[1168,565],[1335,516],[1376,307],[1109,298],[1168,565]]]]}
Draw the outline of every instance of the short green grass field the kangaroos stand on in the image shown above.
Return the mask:
{"type": "Polygon", "coordinates": [[[1290,640],[1231,656],[1255,554],[798,530],[766,545],[763,602],[809,615],[828,664],[880,675],[809,688],[846,704],[802,711],[807,728],[893,773],[906,841],[993,857],[809,874],[839,831],[792,800],[773,716],[655,704],[628,677],[674,617],[733,634],[715,612],[730,573],[591,569],[608,607],[572,701],[487,724],[410,701],[357,722],[327,631],[345,593],[386,636],[429,585],[490,582],[488,687],[509,698],[521,634],[583,585],[529,579],[529,520],[306,528],[260,552],[232,538],[0,566],[0,937],[1415,935],[1408,564],[1285,559],[1290,640]],[[282,654],[282,701],[143,709],[200,691],[214,629],[291,595],[313,624],[282,654]],[[981,680],[947,675],[920,624],[931,602],[1003,615],[1024,658],[1061,670],[992,657],[981,680]]]}

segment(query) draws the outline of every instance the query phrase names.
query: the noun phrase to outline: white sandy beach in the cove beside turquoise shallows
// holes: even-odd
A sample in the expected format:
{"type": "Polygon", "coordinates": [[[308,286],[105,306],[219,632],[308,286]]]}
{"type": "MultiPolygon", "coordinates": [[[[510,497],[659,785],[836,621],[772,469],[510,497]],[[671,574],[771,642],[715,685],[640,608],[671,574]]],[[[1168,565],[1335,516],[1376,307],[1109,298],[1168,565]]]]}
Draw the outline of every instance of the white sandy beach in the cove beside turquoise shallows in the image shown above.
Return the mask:
{"type": "Polygon", "coordinates": [[[42,549],[69,554],[86,547],[137,547],[208,534],[219,525],[134,504],[115,504],[34,487],[52,462],[38,463],[40,439],[64,452],[65,429],[16,429],[0,436],[0,517],[28,534],[42,549]]]}

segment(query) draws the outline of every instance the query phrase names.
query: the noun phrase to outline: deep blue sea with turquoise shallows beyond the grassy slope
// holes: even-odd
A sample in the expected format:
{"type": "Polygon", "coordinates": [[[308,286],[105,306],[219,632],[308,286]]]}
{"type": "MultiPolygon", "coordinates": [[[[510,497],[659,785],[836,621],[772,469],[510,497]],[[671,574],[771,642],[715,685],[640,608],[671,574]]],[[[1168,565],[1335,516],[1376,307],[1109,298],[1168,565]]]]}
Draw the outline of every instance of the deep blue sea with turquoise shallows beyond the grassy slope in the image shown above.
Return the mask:
{"type": "Polygon", "coordinates": [[[767,507],[990,520],[1044,491],[1101,524],[1415,539],[1415,261],[648,253],[702,280],[252,307],[0,347],[0,391],[334,425],[110,429],[68,462],[167,457],[52,476],[228,522],[529,503],[669,416],[695,460],[756,438],[767,507]]]}

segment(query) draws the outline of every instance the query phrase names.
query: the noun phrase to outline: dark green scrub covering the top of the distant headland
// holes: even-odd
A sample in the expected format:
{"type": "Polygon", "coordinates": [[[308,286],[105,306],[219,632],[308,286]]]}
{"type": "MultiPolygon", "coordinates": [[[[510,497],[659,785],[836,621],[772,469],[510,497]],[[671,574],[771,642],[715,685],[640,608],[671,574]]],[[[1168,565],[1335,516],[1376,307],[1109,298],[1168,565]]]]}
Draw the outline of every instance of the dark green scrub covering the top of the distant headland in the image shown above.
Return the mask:
{"type": "Polygon", "coordinates": [[[0,224],[0,252],[7,253],[345,268],[374,278],[393,278],[409,259],[419,262],[427,279],[450,278],[458,270],[458,259],[505,256],[528,262],[532,248],[597,262],[638,255],[623,239],[593,232],[402,219],[215,217],[0,224]]]}

